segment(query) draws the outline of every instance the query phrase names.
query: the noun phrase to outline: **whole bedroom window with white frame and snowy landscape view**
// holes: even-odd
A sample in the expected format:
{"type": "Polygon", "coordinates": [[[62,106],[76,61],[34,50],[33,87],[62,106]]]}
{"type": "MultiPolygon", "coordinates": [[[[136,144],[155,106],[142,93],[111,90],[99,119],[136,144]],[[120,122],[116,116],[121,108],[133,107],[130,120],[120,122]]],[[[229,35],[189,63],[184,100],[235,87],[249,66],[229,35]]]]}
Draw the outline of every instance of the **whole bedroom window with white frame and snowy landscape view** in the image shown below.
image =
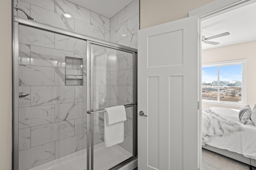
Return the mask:
{"type": "Polygon", "coordinates": [[[246,104],[246,59],[202,67],[202,100],[224,105],[246,104]]]}

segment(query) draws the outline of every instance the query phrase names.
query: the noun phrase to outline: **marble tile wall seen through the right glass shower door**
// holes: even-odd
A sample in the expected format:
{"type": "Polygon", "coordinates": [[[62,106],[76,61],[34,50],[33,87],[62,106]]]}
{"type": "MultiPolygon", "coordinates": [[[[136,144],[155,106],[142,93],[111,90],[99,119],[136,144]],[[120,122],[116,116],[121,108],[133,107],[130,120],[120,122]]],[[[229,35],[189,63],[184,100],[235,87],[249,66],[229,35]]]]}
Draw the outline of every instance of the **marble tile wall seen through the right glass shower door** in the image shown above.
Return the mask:
{"type": "MultiPolygon", "coordinates": [[[[94,109],[133,102],[133,54],[94,45],[94,109]]],[[[133,152],[133,110],[126,108],[125,140],[119,144],[133,152]]],[[[94,115],[94,144],[104,142],[104,116],[94,115]]]]}

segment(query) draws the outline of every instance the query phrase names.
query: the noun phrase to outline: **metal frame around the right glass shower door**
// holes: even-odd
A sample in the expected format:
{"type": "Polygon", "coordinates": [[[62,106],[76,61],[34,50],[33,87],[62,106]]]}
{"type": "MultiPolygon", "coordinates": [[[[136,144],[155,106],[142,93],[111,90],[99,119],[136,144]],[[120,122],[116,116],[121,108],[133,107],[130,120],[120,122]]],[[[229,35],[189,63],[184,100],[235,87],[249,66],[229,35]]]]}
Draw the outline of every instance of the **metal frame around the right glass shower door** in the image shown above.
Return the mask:
{"type": "MultiPolygon", "coordinates": [[[[86,89],[87,89],[87,133],[86,133],[86,140],[87,140],[87,170],[93,170],[94,164],[94,116],[93,112],[102,112],[103,109],[94,110],[94,96],[93,96],[93,85],[94,85],[94,55],[93,55],[93,45],[100,45],[102,47],[107,47],[110,49],[116,49],[120,51],[125,51],[128,53],[133,54],[133,103],[124,105],[125,107],[133,107],[133,125],[137,125],[137,51],[131,51],[130,49],[124,49],[121,47],[114,47],[108,44],[98,43],[94,41],[87,40],[87,81],[86,81],[86,89]],[[90,163],[89,163],[90,162],[90,163]]],[[[110,170],[117,170],[122,166],[124,162],[132,161],[137,159],[137,126],[133,126],[133,156],[128,160],[121,162],[120,164],[110,168],[110,170]]]]}

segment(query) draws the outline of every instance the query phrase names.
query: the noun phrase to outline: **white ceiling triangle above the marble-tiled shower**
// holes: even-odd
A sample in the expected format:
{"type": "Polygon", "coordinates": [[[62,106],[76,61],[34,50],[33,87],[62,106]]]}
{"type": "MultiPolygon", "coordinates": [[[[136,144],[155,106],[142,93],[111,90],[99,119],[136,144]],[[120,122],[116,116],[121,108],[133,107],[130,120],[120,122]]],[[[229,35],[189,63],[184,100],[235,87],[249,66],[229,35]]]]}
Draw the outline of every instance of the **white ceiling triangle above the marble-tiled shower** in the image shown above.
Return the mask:
{"type": "Polygon", "coordinates": [[[68,0],[78,6],[96,12],[107,18],[112,18],[116,13],[130,4],[133,0],[68,0]]]}

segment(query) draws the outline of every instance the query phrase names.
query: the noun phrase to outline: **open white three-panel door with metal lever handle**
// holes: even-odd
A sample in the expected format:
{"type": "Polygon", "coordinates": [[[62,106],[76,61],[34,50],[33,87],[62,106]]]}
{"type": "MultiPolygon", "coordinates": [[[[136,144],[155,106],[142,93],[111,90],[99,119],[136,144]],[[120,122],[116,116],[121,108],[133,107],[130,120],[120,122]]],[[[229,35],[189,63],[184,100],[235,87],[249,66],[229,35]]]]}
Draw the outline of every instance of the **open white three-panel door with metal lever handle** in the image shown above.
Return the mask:
{"type": "Polygon", "coordinates": [[[138,170],[198,168],[198,18],[138,32],[138,170]]]}

